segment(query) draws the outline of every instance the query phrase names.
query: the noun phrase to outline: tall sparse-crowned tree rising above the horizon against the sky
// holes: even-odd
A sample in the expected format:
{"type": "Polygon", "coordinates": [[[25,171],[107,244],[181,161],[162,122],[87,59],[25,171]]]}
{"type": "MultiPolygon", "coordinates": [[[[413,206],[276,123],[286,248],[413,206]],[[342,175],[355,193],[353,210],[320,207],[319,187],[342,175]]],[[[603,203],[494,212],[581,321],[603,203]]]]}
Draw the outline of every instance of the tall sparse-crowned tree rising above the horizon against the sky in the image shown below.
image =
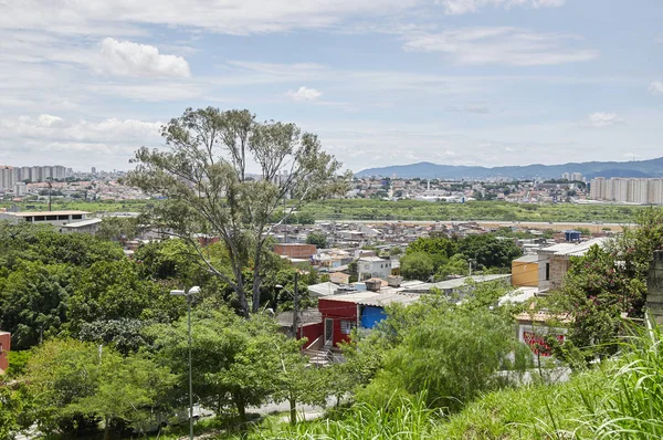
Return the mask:
{"type": "Polygon", "coordinates": [[[210,273],[236,292],[245,316],[257,312],[271,220],[278,213],[281,223],[304,203],[339,190],[340,164],[323,151],[316,135],[295,124],[257,122],[246,109],[187,108],[161,134],[168,149],[140,148],[127,182],[166,197],[152,211],[155,221],[194,247],[210,273]],[[288,198],[290,208],[282,208],[288,198]],[[230,270],[206,258],[198,233],[220,237],[230,270]],[[253,270],[251,289],[244,285],[245,268],[253,270]]]}

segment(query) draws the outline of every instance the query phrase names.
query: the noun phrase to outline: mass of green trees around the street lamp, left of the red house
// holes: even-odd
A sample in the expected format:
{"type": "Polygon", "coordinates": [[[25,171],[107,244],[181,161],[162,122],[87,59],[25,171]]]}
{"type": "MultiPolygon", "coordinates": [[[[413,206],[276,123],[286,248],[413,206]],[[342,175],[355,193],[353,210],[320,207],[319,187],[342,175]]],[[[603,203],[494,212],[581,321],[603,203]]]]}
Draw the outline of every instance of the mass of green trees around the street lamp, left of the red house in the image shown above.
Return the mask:
{"type": "MultiPolygon", "coordinates": [[[[0,328],[12,333],[2,379],[15,380],[0,386],[0,438],[33,422],[70,438],[99,422],[109,436],[177,421],[187,390],[186,304],[169,291],[182,285],[202,286],[193,304],[198,401],[240,420],[266,399],[324,401],[325,380],[303,368],[298,343],[271,317],[241,318],[232,289],[181,240],[145,244],[128,259],[112,241],[1,222],[0,248],[0,328]]],[[[207,251],[223,264],[221,245],[207,251]]],[[[292,300],[275,285],[292,290],[295,271],[272,253],[264,261],[263,301],[287,310],[292,300]]],[[[251,282],[251,272],[244,276],[251,282]]],[[[317,281],[311,272],[301,286],[317,281]]]]}

